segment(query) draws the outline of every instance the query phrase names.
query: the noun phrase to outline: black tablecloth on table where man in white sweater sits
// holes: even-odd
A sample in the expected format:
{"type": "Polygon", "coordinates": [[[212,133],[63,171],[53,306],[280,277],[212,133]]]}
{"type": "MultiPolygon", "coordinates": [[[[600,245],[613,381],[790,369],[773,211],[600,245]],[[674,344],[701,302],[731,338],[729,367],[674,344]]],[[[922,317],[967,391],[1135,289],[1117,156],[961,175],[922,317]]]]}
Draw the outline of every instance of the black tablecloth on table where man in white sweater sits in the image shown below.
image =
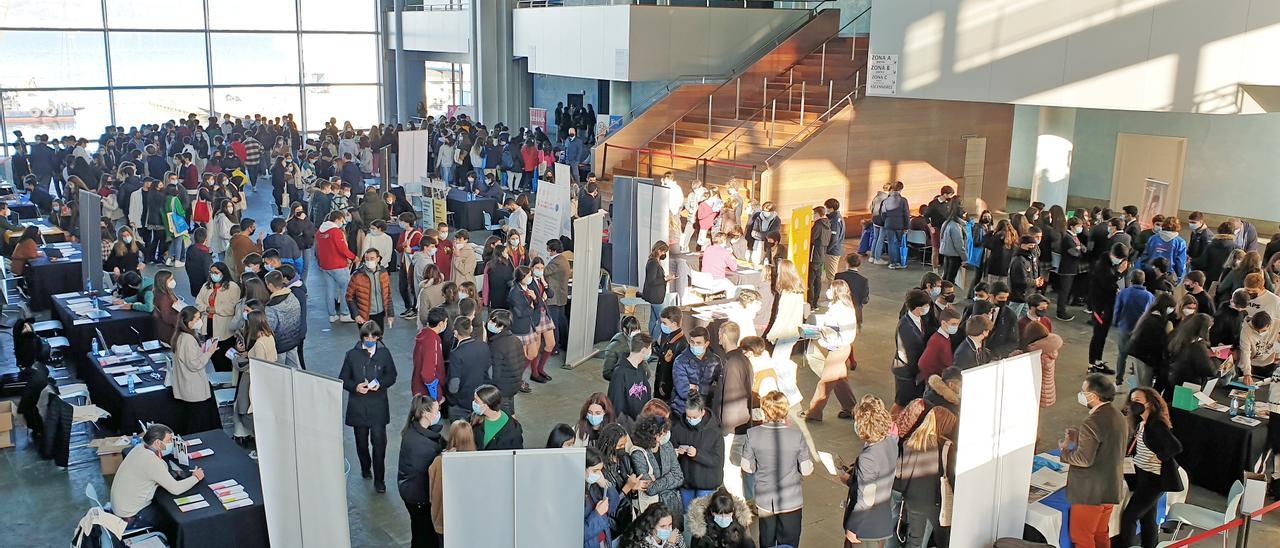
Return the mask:
{"type": "Polygon", "coordinates": [[[187,493],[177,497],[164,489],[156,489],[156,504],[160,507],[159,529],[169,535],[175,548],[230,548],[266,547],[266,510],[262,506],[262,480],[259,476],[257,462],[232,442],[221,430],[200,431],[186,435],[187,439],[200,438],[195,449],[214,449],[214,455],[191,461],[192,466],[205,470],[205,479],[187,493]],[[236,480],[244,485],[244,493],[253,504],[243,508],[225,510],[209,485],[236,480]],[[201,494],[209,502],[207,508],[182,512],[174,498],[201,494]]]}

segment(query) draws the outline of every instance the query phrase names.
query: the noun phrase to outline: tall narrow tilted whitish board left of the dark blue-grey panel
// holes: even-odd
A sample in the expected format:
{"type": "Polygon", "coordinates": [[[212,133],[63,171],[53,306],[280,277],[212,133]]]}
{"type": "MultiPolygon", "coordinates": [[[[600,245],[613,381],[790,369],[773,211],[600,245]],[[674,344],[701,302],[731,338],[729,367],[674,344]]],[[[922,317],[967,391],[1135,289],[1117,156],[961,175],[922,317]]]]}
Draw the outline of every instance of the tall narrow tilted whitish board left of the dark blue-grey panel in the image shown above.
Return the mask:
{"type": "Polygon", "coordinates": [[[599,300],[600,243],[604,211],[573,220],[573,301],[570,303],[568,346],[564,362],[571,366],[595,355],[595,305],[599,300]]]}

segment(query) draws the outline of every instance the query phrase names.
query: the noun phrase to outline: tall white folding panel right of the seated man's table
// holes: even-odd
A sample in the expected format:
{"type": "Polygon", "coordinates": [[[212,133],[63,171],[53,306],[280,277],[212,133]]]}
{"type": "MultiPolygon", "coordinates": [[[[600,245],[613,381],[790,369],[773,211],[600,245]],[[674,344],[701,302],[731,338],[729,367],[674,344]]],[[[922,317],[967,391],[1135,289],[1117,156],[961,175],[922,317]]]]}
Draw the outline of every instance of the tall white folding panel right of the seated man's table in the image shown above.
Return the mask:
{"type": "Polygon", "coordinates": [[[250,371],[271,544],[349,547],[342,383],[259,360],[250,371]]]}

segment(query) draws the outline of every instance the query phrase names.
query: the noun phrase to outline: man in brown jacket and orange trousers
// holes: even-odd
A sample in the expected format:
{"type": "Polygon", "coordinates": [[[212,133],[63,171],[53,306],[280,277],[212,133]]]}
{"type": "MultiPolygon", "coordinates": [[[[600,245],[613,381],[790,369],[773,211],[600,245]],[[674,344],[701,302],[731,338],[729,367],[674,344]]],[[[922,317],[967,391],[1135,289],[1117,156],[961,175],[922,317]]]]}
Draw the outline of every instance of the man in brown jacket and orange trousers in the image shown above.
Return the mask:
{"type": "Polygon", "coordinates": [[[1089,408],[1079,428],[1068,428],[1057,442],[1066,472],[1066,499],[1071,503],[1071,543],[1082,548],[1110,547],[1111,510],[1120,503],[1129,425],[1111,402],[1115,383],[1091,373],[1080,383],[1076,401],[1089,408]]]}

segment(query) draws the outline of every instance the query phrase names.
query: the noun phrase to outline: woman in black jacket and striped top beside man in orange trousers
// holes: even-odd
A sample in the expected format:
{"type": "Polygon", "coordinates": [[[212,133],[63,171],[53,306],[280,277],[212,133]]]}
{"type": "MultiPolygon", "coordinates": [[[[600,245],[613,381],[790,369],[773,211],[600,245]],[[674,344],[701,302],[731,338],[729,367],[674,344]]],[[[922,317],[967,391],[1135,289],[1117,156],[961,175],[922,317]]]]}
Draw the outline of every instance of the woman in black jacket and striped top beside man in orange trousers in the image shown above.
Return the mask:
{"type": "Polygon", "coordinates": [[[1125,481],[1129,484],[1129,502],[1120,512],[1119,545],[1139,545],[1135,542],[1138,526],[1142,526],[1143,548],[1155,548],[1160,540],[1160,528],[1156,524],[1156,506],[1161,496],[1185,488],[1178,474],[1175,457],[1183,452],[1183,444],[1174,437],[1169,421],[1169,407],[1160,394],[1151,388],[1134,388],[1129,392],[1126,407],[1129,431],[1133,433],[1125,451],[1125,460],[1133,466],[1125,466],[1125,481]]]}

